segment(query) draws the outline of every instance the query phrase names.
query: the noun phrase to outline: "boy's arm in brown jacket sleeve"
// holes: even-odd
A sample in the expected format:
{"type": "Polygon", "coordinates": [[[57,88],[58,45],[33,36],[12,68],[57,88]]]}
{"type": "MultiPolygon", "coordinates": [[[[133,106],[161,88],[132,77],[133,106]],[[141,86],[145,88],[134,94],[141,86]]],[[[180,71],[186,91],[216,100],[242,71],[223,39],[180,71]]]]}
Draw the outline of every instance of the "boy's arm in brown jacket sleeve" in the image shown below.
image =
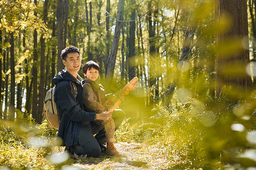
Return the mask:
{"type": "Polygon", "coordinates": [[[94,92],[89,83],[85,83],[82,87],[82,103],[92,111],[102,113],[105,107],[94,99],[94,92]]]}

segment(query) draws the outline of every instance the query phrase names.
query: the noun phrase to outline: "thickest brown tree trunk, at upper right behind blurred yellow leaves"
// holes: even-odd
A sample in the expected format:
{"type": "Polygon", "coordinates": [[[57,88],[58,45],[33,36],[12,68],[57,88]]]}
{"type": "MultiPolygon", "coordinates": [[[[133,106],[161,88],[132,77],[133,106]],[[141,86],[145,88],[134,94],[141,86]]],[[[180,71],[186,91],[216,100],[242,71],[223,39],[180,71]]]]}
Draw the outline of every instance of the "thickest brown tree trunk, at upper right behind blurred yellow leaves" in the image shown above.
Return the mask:
{"type": "Polygon", "coordinates": [[[232,21],[230,28],[217,31],[217,47],[223,46],[222,43],[229,40],[237,43],[236,49],[230,51],[226,46],[225,52],[223,50],[216,55],[217,95],[220,94],[224,85],[232,86],[235,91],[250,92],[253,83],[251,77],[246,74],[246,65],[249,63],[247,3],[241,0],[218,0],[217,9],[217,18],[224,16],[232,21]]]}

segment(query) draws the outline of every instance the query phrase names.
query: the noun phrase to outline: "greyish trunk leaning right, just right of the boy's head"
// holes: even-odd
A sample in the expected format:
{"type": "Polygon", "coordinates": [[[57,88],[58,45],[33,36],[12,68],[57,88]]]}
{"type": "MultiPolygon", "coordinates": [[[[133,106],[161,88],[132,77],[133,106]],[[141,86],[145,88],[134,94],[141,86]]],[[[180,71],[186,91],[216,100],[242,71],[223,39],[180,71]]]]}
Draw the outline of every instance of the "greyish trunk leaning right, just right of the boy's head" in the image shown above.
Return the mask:
{"type": "Polygon", "coordinates": [[[120,37],[121,28],[122,28],[122,22],[120,22],[120,20],[122,20],[123,18],[124,3],[125,3],[124,0],[119,0],[118,10],[117,10],[117,23],[115,24],[115,32],[114,32],[114,37],[112,42],[112,48],[111,48],[111,52],[107,62],[108,66],[106,70],[106,80],[108,80],[108,82],[111,81],[114,75],[115,59],[117,58],[119,37],[120,37]]]}

